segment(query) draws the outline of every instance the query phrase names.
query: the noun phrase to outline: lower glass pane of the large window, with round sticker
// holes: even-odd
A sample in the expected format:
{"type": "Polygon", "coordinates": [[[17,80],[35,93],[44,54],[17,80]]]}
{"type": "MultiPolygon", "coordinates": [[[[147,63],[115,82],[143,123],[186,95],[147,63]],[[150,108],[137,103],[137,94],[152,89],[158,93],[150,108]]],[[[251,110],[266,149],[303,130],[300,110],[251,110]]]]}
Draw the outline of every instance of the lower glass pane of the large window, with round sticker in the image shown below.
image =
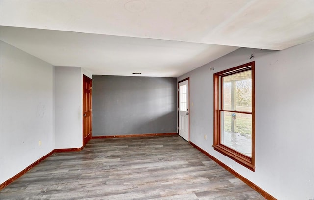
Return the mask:
{"type": "Polygon", "coordinates": [[[252,115],[221,111],[221,143],[252,156],[252,115]]]}

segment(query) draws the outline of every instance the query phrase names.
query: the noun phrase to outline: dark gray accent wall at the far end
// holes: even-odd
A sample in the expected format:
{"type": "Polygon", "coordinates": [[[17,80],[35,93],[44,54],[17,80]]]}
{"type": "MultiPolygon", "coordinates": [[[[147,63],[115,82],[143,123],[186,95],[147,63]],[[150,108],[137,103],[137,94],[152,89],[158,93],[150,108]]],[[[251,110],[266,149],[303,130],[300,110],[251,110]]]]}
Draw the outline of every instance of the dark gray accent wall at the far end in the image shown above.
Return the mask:
{"type": "Polygon", "coordinates": [[[177,132],[177,78],[93,75],[93,136],[177,132]]]}

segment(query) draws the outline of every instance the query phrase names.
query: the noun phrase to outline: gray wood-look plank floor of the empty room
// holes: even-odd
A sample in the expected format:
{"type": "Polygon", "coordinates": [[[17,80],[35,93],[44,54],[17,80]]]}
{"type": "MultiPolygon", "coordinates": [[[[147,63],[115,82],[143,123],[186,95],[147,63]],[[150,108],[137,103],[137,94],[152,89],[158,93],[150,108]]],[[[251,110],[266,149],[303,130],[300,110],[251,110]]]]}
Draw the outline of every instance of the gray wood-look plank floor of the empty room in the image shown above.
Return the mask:
{"type": "Polygon", "coordinates": [[[264,200],[179,136],[92,139],[55,153],[1,200],[264,200]]]}

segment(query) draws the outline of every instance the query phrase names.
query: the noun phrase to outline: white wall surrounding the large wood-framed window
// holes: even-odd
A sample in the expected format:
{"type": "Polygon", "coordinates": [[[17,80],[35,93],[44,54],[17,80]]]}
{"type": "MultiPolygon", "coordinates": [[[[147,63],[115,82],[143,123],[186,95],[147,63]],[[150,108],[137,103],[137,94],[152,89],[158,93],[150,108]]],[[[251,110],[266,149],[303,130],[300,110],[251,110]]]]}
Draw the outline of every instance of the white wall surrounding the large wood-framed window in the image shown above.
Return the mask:
{"type": "Polygon", "coordinates": [[[179,77],[190,77],[190,141],[277,199],[314,198],[313,55],[313,41],[283,51],[240,48],[179,77]],[[255,172],[212,147],[213,73],[253,60],[255,172]]]}

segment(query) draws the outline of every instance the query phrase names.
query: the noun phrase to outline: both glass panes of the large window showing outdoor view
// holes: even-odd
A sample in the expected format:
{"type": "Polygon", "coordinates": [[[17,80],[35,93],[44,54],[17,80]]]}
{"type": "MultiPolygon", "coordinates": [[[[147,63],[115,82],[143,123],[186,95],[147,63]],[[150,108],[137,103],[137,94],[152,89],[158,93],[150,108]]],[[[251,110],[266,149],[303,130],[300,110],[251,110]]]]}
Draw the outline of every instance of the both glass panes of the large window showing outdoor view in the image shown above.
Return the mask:
{"type": "Polygon", "coordinates": [[[221,143],[247,156],[252,151],[251,71],[222,77],[221,143]]]}

